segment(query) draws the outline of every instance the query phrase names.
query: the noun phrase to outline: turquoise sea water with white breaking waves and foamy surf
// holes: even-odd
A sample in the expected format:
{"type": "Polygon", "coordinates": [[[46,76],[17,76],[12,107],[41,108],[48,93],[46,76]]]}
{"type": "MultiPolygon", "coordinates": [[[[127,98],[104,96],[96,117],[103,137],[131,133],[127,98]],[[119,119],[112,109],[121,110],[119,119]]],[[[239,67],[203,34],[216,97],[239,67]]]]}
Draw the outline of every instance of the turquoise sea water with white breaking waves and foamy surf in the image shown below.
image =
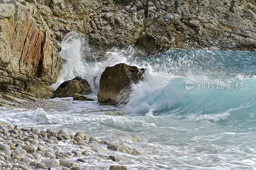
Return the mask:
{"type": "MultiPolygon", "coordinates": [[[[67,62],[54,88],[82,76],[92,86],[90,97],[96,99],[101,73],[118,63],[147,68],[144,81],[131,86],[119,107],[57,98],[53,100],[61,104],[48,110],[1,107],[0,120],[126,143],[141,154],[103,154],[118,156],[119,164],[134,170],[255,169],[255,52],[174,49],[138,58],[131,47],[109,50],[107,59],[96,61],[84,55],[91,50],[84,40],[76,33],[69,36],[61,43],[60,54],[67,62]],[[186,80],[244,81],[244,88],[188,91],[186,80]]],[[[111,164],[92,161],[86,168],[107,169],[111,164]]]]}

